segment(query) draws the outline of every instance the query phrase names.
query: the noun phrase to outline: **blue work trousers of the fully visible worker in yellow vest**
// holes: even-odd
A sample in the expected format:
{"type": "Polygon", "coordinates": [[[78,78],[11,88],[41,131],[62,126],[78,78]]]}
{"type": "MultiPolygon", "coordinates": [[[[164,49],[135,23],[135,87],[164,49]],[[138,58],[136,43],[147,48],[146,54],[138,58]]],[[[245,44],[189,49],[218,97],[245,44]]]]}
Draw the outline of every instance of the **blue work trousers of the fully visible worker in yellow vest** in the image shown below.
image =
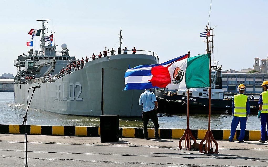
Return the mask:
{"type": "Polygon", "coordinates": [[[240,124],[240,135],[238,137],[238,141],[242,141],[244,139],[247,125],[247,117],[233,116],[229,141],[233,140],[238,124],[240,124]]]}

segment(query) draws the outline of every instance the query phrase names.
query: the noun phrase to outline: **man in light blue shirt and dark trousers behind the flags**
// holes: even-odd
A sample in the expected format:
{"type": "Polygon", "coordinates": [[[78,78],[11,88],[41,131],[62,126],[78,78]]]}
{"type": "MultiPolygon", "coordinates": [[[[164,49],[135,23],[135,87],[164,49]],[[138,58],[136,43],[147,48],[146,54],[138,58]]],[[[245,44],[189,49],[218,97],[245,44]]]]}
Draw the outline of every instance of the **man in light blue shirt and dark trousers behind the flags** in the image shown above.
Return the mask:
{"type": "Polygon", "coordinates": [[[151,118],[154,123],[154,136],[155,139],[161,139],[158,134],[159,124],[157,118],[156,109],[158,107],[155,94],[151,92],[151,89],[146,89],[144,93],[140,95],[139,105],[142,105],[142,119],[143,119],[143,134],[144,139],[148,140],[147,126],[149,119],[151,118]]]}

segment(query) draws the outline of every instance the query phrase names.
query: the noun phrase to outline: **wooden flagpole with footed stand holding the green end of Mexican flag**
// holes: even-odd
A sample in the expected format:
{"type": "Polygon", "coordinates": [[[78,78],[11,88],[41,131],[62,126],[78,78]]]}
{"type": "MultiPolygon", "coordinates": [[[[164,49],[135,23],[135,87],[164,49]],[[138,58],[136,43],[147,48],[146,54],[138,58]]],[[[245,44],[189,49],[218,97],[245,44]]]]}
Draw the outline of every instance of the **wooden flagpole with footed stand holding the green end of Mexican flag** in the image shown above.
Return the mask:
{"type": "MultiPolygon", "coordinates": [[[[208,50],[207,50],[208,52],[208,50]]],[[[210,51],[208,53],[211,53],[210,51]]],[[[204,153],[204,154],[218,154],[218,143],[214,139],[213,134],[210,130],[210,114],[211,114],[211,57],[209,59],[209,128],[208,131],[206,132],[205,137],[202,139],[202,141],[199,144],[199,153],[204,153]],[[206,140],[205,148],[203,151],[203,142],[206,140]],[[215,144],[215,151],[211,151],[210,149],[213,147],[213,143],[215,144]]]]}

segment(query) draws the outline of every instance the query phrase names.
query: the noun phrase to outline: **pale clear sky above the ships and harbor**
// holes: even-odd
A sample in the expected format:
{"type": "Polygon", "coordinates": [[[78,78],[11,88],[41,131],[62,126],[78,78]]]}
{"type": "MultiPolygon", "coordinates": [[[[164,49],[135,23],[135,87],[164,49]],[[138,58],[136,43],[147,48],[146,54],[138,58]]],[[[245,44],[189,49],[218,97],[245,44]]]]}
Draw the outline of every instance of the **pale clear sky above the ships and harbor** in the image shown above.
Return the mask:
{"type": "MultiPolygon", "coordinates": [[[[203,1],[0,1],[0,74],[16,74],[13,60],[31,48],[30,29],[36,20],[51,19],[55,42],[67,44],[72,56],[117,49],[154,51],[159,62],[184,55],[206,53],[199,37],[209,20],[210,0],[203,1]],[[117,43],[116,43],[117,42],[117,43]]],[[[214,53],[222,69],[253,68],[254,58],[268,53],[268,1],[212,1],[210,25],[214,28],[214,53]]],[[[34,39],[34,50],[39,45],[34,39]]],[[[39,47],[37,48],[39,49],[39,47]]],[[[57,51],[61,51],[58,47],[57,51]]],[[[127,69],[128,67],[126,67],[127,69]]]]}

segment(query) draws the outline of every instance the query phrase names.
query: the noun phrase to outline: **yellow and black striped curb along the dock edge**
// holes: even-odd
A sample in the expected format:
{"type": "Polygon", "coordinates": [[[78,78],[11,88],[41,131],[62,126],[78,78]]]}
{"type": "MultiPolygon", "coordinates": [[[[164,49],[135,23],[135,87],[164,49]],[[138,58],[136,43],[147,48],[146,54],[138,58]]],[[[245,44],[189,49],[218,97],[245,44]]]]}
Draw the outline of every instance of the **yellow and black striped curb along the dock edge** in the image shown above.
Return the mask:
{"type": "MultiPolygon", "coordinates": [[[[62,135],[62,136],[88,136],[99,137],[100,127],[89,126],[43,126],[27,125],[27,134],[35,135],[62,135]]],[[[196,139],[203,139],[206,129],[192,129],[192,134],[196,139]]],[[[228,140],[230,130],[211,130],[216,140],[228,140]]],[[[179,139],[184,134],[184,129],[159,129],[159,135],[163,139],[179,139]]],[[[1,125],[0,133],[4,134],[25,134],[25,126],[22,125],[1,125]]],[[[154,129],[148,129],[149,138],[154,138],[154,129]]],[[[119,135],[127,138],[144,138],[142,128],[120,128],[119,135]]],[[[236,131],[234,140],[240,135],[240,130],[236,131]]],[[[245,141],[259,141],[259,130],[246,130],[245,141]]],[[[267,140],[267,133],[266,133],[267,140]]]]}

